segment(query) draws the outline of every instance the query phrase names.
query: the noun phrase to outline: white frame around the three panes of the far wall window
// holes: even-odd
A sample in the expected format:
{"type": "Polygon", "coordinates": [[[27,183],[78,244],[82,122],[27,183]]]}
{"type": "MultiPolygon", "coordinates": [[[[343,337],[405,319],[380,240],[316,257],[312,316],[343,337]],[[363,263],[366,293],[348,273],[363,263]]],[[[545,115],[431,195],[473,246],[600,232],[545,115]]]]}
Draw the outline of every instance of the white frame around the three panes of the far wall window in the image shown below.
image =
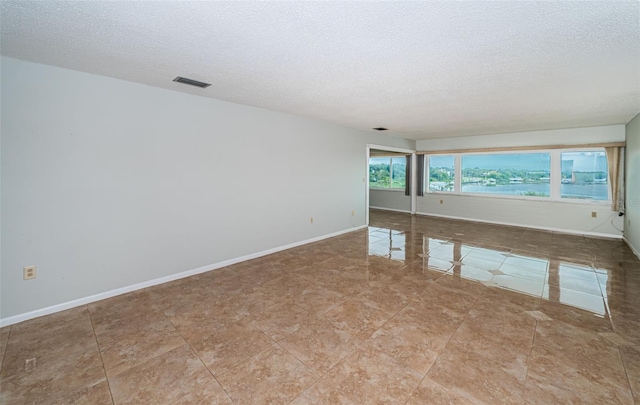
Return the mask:
{"type": "MultiPolygon", "coordinates": [[[[461,152],[455,153],[447,151],[444,153],[426,153],[426,162],[424,165],[424,190],[426,195],[457,195],[467,197],[481,197],[481,198],[500,198],[509,200],[526,200],[526,201],[546,201],[546,202],[559,202],[564,204],[582,204],[582,205],[611,205],[611,184],[607,187],[607,199],[595,200],[585,198],[562,198],[561,197],[561,177],[562,177],[562,153],[567,152],[604,152],[604,147],[576,147],[576,148],[562,148],[562,149],[517,149],[509,151],[474,151],[474,152],[461,152]],[[550,170],[549,170],[549,196],[525,196],[515,194],[497,194],[497,193],[474,193],[462,191],[462,157],[477,156],[477,155],[512,155],[512,154],[549,154],[550,155],[550,170]],[[432,156],[453,156],[454,157],[454,189],[453,191],[438,191],[431,190],[429,188],[430,182],[430,167],[432,156]]],[[[607,162],[608,165],[608,162],[607,162]]]]}

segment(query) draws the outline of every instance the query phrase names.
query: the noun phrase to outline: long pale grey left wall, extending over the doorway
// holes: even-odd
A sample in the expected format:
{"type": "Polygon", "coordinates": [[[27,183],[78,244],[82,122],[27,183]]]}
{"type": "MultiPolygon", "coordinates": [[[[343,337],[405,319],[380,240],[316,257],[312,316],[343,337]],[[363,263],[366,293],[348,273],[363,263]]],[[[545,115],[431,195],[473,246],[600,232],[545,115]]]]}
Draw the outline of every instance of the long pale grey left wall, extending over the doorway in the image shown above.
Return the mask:
{"type": "Polygon", "coordinates": [[[11,58],[1,86],[5,323],[362,226],[367,143],[415,146],[11,58]]]}

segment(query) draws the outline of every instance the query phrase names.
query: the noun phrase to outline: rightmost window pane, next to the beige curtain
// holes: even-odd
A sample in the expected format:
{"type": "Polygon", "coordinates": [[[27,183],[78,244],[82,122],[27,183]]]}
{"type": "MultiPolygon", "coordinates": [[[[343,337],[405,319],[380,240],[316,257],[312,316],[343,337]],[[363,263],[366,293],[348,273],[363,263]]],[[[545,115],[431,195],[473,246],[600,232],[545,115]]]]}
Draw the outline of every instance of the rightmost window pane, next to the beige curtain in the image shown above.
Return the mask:
{"type": "Polygon", "coordinates": [[[604,152],[565,152],[561,158],[560,197],[607,200],[607,157],[604,152]]]}

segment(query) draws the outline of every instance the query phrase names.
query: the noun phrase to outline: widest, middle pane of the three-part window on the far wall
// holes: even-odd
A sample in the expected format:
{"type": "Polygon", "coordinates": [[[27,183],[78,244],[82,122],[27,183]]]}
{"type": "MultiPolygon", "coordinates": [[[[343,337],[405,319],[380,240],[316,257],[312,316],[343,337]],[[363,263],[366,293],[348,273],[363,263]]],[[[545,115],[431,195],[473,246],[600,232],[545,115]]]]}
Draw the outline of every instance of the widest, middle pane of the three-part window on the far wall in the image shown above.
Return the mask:
{"type": "Polygon", "coordinates": [[[462,192],[549,197],[551,155],[511,153],[462,156],[462,192]]]}

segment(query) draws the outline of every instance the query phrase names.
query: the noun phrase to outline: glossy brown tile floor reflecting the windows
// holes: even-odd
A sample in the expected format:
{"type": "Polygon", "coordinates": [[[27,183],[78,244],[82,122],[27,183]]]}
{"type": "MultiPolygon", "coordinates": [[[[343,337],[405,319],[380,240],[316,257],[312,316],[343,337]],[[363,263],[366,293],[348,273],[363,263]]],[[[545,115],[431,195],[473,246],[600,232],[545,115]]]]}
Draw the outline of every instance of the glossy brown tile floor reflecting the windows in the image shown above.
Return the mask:
{"type": "Polygon", "coordinates": [[[371,224],[2,328],[0,403],[640,403],[622,242],[371,224]]]}

